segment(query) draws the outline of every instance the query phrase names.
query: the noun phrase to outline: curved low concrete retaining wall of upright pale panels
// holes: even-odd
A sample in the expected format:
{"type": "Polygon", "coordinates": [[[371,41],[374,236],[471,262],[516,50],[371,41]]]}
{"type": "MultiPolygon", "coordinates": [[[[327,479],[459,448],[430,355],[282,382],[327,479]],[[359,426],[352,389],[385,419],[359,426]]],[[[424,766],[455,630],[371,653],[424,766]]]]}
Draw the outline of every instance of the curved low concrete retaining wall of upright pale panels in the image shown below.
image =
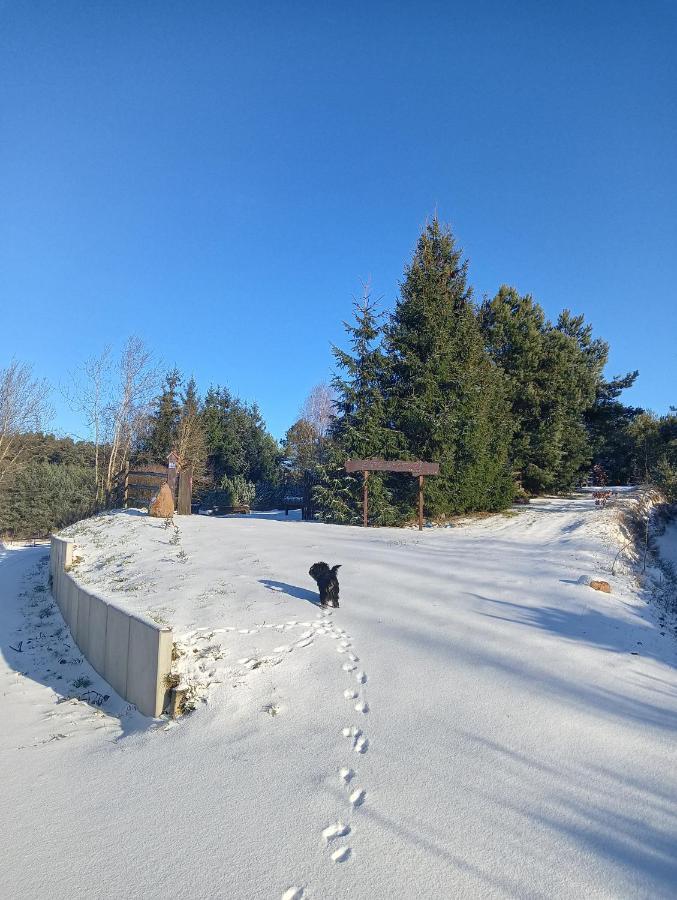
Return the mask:
{"type": "Polygon", "coordinates": [[[85,590],[68,573],[73,541],[52,537],[52,596],[92,668],[145,716],[159,716],[172,666],[172,630],[85,590]]]}

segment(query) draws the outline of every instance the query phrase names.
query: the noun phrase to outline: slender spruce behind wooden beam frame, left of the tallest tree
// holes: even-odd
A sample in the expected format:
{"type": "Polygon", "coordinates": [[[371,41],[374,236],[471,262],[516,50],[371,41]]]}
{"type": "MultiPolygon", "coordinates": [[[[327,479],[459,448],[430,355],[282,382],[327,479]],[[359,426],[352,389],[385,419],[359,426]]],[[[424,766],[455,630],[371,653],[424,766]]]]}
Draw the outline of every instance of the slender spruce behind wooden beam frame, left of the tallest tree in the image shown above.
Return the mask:
{"type": "MultiPolygon", "coordinates": [[[[338,370],[332,380],[335,417],[315,489],[322,517],[335,522],[358,522],[362,517],[362,478],[346,475],[346,459],[393,459],[401,455],[403,447],[401,434],[388,421],[388,358],[381,346],[382,316],[368,288],[353,307],[355,323],[343,323],[350,349],[332,348],[338,370]]],[[[378,472],[369,478],[369,519],[376,525],[393,525],[399,520],[387,477],[378,472]]]]}

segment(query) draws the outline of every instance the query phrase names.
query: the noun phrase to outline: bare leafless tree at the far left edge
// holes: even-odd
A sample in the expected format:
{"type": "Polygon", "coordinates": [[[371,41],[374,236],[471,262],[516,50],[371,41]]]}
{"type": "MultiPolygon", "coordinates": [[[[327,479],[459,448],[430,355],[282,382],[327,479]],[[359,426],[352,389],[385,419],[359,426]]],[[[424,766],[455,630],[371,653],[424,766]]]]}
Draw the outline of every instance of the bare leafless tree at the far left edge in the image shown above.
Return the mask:
{"type": "Polygon", "coordinates": [[[50,414],[49,386],[26,363],[0,369],[0,484],[16,472],[26,449],[24,435],[40,431],[50,414]]]}

